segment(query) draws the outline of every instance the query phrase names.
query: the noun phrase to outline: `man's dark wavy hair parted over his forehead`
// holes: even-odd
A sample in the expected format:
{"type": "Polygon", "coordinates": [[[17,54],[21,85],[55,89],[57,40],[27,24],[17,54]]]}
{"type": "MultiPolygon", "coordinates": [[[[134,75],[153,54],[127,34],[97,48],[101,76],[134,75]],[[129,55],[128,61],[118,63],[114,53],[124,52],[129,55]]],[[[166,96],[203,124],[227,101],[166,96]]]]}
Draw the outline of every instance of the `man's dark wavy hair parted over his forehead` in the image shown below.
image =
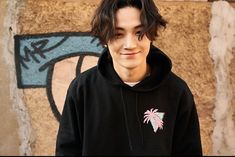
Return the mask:
{"type": "MultiPolygon", "coordinates": [[[[91,34],[105,45],[115,36],[116,12],[124,7],[140,10],[140,21],[143,29],[139,40],[146,36],[153,41],[158,36],[158,29],[166,27],[166,20],[159,14],[153,0],[102,0],[91,21],[91,34]]],[[[127,15],[128,16],[128,15],[127,15]]]]}

